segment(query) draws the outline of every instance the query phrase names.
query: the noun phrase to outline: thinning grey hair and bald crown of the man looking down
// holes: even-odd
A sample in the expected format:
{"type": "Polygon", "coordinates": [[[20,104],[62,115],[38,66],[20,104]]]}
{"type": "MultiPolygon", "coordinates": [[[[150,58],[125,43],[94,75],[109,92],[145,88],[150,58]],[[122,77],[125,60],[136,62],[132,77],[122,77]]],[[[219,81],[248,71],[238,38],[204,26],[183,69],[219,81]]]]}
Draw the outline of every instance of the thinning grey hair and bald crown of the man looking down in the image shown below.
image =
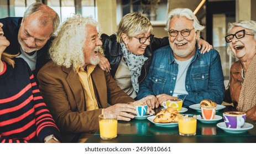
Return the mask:
{"type": "Polygon", "coordinates": [[[59,15],[52,8],[48,7],[48,5],[40,2],[29,5],[24,13],[23,20],[35,12],[41,12],[41,15],[38,18],[42,25],[47,25],[48,23],[53,22],[53,33],[58,29],[60,25],[59,15]]]}

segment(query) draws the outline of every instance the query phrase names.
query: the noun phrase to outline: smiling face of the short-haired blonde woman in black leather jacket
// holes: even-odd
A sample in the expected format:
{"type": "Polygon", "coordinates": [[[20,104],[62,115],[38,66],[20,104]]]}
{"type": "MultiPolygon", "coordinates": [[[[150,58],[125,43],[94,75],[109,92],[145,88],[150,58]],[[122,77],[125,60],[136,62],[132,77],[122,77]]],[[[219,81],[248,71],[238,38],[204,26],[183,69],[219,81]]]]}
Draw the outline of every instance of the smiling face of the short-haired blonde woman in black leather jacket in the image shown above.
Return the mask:
{"type": "Polygon", "coordinates": [[[140,43],[138,38],[149,37],[150,34],[151,32],[148,31],[145,34],[139,34],[130,39],[128,39],[128,36],[126,34],[122,34],[122,39],[123,39],[123,42],[126,44],[128,51],[137,55],[142,55],[144,54],[147,46],[150,45],[150,39],[148,38],[144,43],[140,43]]]}

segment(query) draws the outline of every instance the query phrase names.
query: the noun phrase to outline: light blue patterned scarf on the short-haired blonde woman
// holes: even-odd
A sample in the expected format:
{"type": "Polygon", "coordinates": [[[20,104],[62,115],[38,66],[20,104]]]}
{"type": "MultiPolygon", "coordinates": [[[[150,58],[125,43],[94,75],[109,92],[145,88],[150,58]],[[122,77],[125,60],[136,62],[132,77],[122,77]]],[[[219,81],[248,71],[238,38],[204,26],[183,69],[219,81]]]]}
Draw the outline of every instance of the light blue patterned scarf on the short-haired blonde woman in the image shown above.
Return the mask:
{"type": "Polygon", "coordinates": [[[132,52],[129,52],[124,43],[121,44],[121,51],[123,53],[123,57],[126,59],[128,68],[130,70],[130,76],[132,80],[133,89],[138,93],[139,91],[139,75],[142,70],[142,66],[145,61],[147,61],[148,57],[143,55],[136,55],[132,52]]]}

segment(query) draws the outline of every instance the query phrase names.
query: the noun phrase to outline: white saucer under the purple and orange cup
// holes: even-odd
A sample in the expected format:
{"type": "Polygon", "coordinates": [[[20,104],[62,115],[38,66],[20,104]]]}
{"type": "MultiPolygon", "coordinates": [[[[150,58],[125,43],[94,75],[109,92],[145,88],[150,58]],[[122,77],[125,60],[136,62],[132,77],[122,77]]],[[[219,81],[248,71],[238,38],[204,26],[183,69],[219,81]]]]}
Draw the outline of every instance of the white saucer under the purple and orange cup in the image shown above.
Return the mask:
{"type": "Polygon", "coordinates": [[[235,129],[235,128],[227,128],[225,122],[221,122],[217,124],[217,127],[226,131],[227,133],[238,134],[238,133],[244,133],[245,131],[252,129],[253,125],[249,123],[244,123],[242,128],[235,129]]]}

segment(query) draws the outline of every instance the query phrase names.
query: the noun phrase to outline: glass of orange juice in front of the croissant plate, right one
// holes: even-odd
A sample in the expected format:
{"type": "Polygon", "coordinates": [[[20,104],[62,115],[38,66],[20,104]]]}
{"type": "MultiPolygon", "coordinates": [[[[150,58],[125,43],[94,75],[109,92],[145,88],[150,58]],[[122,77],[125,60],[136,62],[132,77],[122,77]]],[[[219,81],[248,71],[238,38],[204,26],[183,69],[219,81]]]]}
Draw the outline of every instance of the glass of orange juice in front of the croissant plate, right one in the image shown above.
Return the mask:
{"type": "Polygon", "coordinates": [[[196,135],[196,115],[180,114],[178,116],[179,134],[181,136],[196,135]]]}

